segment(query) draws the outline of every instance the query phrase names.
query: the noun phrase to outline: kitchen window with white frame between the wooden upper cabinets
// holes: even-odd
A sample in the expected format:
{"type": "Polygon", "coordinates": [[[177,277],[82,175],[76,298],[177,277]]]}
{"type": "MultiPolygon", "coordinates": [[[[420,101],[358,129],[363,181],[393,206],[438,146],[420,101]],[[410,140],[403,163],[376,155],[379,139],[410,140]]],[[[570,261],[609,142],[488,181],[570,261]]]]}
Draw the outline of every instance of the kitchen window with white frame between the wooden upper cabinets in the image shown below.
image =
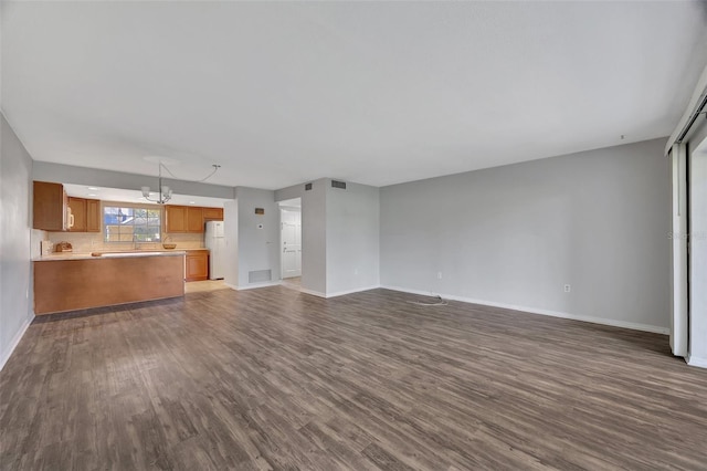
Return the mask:
{"type": "Polygon", "coordinates": [[[104,206],[103,226],[106,242],[159,242],[161,209],[129,206],[104,206]]]}

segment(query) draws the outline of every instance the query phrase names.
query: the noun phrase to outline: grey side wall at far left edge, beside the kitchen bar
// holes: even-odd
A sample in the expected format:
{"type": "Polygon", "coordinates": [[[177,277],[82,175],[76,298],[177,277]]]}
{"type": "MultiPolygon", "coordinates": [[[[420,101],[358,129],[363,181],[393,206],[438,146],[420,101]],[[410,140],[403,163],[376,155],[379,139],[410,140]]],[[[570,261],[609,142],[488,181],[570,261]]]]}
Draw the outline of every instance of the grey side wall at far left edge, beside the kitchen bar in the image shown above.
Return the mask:
{"type": "Polygon", "coordinates": [[[34,317],[31,299],[32,158],[1,116],[0,368],[34,317]]]}

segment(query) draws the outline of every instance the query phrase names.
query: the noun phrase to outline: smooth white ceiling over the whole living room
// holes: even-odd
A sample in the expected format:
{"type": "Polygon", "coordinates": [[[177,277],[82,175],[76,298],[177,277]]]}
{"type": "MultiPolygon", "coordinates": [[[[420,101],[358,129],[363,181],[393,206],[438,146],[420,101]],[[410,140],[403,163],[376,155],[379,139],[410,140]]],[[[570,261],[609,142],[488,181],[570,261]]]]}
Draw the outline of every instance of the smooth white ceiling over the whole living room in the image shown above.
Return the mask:
{"type": "Polygon", "coordinates": [[[35,160],[268,189],[667,136],[707,62],[697,1],[2,4],[35,160]]]}

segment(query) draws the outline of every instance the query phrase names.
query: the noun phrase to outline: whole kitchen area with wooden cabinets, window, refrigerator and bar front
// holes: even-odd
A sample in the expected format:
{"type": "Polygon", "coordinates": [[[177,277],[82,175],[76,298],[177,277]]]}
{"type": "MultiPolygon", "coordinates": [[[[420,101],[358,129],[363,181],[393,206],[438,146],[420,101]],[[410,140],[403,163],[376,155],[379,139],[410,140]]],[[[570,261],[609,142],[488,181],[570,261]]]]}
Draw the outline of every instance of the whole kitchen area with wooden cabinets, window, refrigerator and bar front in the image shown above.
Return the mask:
{"type": "Polygon", "coordinates": [[[35,314],[181,296],[184,283],[222,279],[223,201],[150,201],[137,191],[34,181],[35,314]]]}

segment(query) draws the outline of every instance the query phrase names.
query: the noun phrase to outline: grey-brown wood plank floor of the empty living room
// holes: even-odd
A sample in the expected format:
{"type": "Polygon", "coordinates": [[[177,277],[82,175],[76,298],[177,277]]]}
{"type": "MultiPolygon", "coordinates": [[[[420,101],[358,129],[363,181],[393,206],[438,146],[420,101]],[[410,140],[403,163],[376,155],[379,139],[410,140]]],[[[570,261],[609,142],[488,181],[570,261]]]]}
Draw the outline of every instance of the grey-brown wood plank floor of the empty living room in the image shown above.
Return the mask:
{"type": "Polygon", "coordinates": [[[0,469],[707,468],[707,370],[666,336],[415,299],[38,318],[0,373],[0,469]]]}

